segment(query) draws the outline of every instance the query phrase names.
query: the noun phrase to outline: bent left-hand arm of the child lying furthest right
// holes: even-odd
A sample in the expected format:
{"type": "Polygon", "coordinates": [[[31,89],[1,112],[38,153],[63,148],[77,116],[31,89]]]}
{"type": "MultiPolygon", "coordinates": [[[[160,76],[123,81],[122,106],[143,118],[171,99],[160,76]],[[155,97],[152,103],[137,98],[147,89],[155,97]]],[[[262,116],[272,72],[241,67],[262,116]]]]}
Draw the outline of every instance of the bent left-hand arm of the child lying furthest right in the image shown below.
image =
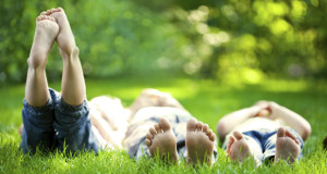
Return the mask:
{"type": "Polygon", "coordinates": [[[225,115],[217,124],[219,140],[223,141],[226,135],[230,133],[237,125],[244,122],[249,117],[255,116],[262,109],[262,107],[253,105],[251,108],[245,108],[225,115]]]}

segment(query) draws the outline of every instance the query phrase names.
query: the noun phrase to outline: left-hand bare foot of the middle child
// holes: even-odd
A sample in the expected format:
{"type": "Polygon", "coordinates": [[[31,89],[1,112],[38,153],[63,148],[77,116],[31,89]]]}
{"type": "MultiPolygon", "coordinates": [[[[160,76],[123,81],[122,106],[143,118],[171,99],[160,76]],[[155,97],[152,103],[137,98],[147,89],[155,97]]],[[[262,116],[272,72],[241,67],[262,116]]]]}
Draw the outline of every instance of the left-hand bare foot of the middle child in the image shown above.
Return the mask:
{"type": "Polygon", "coordinates": [[[169,159],[177,162],[178,152],[175,136],[171,129],[170,123],[161,117],[158,124],[149,128],[146,134],[145,144],[148,147],[152,157],[159,154],[162,159],[169,159]]]}

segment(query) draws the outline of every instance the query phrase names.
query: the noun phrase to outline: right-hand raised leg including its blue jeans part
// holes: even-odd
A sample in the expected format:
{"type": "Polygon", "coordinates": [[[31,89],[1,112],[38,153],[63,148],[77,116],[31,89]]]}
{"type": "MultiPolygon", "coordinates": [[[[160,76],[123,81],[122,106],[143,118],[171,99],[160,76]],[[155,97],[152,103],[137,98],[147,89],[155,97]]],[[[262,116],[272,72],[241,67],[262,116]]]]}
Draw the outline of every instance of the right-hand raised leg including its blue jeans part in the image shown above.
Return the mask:
{"type": "Polygon", "coordinates": [[[69,21],[61,8],[48,10],[43,14],[55,17],[60,27],[57,42],[63,59],[62,96],[56,100],[53,122],[58,147],[60,150],[71,152],[78,150],[97,152],[99,144],[92,130],[78,49],[69,21]]]}

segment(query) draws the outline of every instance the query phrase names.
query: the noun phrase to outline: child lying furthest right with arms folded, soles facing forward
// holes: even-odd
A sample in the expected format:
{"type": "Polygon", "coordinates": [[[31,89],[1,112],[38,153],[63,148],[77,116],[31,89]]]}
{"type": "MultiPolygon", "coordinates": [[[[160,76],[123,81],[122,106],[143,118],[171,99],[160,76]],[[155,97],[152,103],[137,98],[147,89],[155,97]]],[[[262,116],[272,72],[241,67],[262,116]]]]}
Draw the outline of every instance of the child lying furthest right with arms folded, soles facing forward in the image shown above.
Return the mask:
{"type": "Polygon", "coordinates": [[[311,126],[301,115],[276,102],[259,101],[223,116],[217,132],[231,160],[243,162],[253,157],[259,165],[266,160],[292,163],[299,159],[311,126]],[[286,125],[290,127],[284,128],[286,125]]]}

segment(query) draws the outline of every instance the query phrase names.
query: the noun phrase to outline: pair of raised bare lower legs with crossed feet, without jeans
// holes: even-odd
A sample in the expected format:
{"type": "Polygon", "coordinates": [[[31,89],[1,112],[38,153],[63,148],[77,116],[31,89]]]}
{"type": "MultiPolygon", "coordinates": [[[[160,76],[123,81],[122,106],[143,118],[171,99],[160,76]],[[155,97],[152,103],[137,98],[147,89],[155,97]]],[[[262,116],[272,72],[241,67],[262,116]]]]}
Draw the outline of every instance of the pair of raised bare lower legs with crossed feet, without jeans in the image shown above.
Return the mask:
{"type": "Polygon", "coordinates": [[[63,60],[62,98],[71,105],[80,105],[86,97],[85,80],[78,49],[66,15],[61,8],[43,12],[36,20],[34,41],[27,60],[26,101],[33,107],[41,107],[49,100],[45,69],[55,40],[59,45],[63,60]]]}

